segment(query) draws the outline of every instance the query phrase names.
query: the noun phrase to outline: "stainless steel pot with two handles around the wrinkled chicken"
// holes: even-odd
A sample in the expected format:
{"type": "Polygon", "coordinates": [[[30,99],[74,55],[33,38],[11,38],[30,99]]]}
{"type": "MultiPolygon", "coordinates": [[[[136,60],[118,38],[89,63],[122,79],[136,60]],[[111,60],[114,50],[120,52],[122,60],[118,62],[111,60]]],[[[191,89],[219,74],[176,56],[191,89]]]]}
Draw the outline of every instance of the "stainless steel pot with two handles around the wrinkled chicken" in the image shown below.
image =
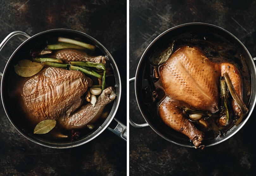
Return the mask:
{"type": "MultiPolygon", "coordinates": [[[[11,124],[18,130],[24,137],[26,137],[28,140],[40,144],[42,146],[50,147],[50,148],[70,148],[70,147],[76,147],[79,145],[82,145],[84,143],[87,143],[100,135],[105,129],[109,129],[112,132],[114,132],[116,135],[121,137],[122,139],[126,140],[126,126],[123,125],[121,122],[116,120],[115,114],[117,111],[117,108],[119,106],[120,98],[121,98],[121,79],[120,74],[117,68],[117,65],[115,63],[114,58],[111,56],[111,54],[108,52],[108,50],[96,39],[92,38],[91,36],[75,31],[70,29],[52,29],[47,30],[41,33],[38,33],[36,35],[30,36],[28,33],[22,32],[22,31],[14,31],[10,33],[0,44],[0,51],[3,48],[3,46],[7,43],[9,39],[16,35],[23,35],[26,36],[28,39],[26,39],[11,55],[9,58],[5,69],[3,73],[0,72],[0,76],[2,77],[1,81],[1,96],[2,96],[2,102],[3,107],[6,112],[7,117],[9,118],[9,121],[11,124]],[[46,139],[42,139],[38,137],[38,135],[34,135],[33,132],[26,130],[20,123],[18,123],[17,114],[15,114],[12,110],[12,105],[9,101],[9,94],[8,94],[8,82],[12,81],[9,80],[9,75],[11,74],[11,71],[13,66],[17,63],[18,56],[28,50],[28,48],[33,48],[34,45],[36,45],[37,42],[40,42],[41,40],[46,40],[48,38],[56,37],[56,36],[69,36],[72,38],[80,38],[92,45],[97,46],[97,48],[105,55],[105,57],[109,60],[109,63],[112,67],[113,74],[115,75],[115,89],[116,89],[116,99],[114,100],[112,109],[109,113],[109,116],[106,118],[106,120],[103,122],[102,125],[100,125],[94,132],[91,134],[81,137],[78,140],[70,141],[70,142],[55,142],[50,141],[46,139]],[[110,125],[111,123],[111,125],[110,125]],[[110,128],[111,126],[111,128],[110,128]]],[[[18,85],[17,85],[18,86],[18,85]]]]}

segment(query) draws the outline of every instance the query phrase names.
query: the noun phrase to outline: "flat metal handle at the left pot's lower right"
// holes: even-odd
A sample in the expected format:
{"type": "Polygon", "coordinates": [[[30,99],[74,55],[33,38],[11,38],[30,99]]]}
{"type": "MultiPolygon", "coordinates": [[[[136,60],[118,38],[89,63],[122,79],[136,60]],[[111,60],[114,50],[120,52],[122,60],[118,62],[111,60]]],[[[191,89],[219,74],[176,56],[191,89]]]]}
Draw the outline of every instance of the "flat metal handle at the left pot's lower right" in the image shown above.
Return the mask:
{"type": "Polygon", "coordinates": [[[116,118],[108,126],[108,130],[115,133],[117,136],[121,137],[123,140],[127,141],[127,127],[118,121],[116,118]]]}

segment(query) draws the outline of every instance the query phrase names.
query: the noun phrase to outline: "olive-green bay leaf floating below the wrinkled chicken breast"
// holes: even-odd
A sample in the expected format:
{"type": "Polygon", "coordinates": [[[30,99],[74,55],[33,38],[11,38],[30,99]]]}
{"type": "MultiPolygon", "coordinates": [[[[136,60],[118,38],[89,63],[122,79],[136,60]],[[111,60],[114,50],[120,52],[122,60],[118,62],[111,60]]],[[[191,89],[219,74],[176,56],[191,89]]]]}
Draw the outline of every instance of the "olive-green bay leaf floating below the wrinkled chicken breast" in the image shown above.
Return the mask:
{"type": "Polygon", "coordinates": [[[56,120],[43,120],[35,126],[34,134],[45,134],[51,131],[56,125],[56,120]]]}

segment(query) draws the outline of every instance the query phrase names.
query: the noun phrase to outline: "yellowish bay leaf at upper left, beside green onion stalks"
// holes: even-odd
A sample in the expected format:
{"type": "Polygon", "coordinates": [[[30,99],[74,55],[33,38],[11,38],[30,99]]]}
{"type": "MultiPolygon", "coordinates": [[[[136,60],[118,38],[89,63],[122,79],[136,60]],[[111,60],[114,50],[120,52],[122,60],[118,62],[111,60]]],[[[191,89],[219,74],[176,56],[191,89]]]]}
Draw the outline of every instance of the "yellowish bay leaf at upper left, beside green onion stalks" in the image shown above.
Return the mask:
{"type": "Polygon", "coordinates": [[[17,75],[22,77],[30,77],[37,74],[42,70],[43,65],[41,63],[32,62],[28,59],[20,60],[14,65],[14,71],[17,75]]]}

